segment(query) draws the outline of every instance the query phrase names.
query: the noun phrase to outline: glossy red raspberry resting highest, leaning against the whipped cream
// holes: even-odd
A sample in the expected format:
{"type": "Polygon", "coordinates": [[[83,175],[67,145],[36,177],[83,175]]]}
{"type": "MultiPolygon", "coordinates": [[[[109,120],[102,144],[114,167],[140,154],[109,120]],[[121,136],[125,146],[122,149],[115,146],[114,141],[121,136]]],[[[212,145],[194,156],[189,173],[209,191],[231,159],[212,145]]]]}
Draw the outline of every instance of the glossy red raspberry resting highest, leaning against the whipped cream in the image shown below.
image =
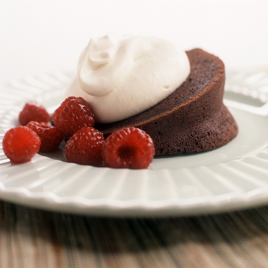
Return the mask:
{"type": "Polygon", "coordinates": [[[81,97],[68,97],[61,103],[53,115],[55,127],[66,137],[82,127],[92,127],[95,124],[92,108],[81,97]]]}

